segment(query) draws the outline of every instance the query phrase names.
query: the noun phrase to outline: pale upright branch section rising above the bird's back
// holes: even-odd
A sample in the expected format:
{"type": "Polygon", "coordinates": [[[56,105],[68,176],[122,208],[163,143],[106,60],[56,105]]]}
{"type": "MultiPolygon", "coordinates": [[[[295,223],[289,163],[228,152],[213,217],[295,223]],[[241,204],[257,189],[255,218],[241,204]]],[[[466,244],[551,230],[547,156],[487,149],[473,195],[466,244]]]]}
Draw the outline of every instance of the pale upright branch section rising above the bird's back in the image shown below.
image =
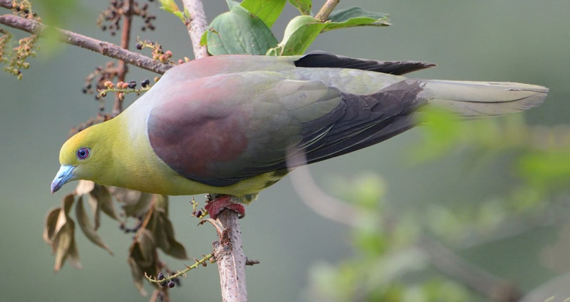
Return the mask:
{"type": "Polygon", "coordinates": [[[186,23],[188,35],[192,41],[192,50],[194,57],[204,58],[208,56],[208,50],[205,45],[200,45],[202,34],[208,28],[208,21],[204,13],[204,5],[201,0],[182,0],[185,8],[190,11],[190,22],[186,23]]]}

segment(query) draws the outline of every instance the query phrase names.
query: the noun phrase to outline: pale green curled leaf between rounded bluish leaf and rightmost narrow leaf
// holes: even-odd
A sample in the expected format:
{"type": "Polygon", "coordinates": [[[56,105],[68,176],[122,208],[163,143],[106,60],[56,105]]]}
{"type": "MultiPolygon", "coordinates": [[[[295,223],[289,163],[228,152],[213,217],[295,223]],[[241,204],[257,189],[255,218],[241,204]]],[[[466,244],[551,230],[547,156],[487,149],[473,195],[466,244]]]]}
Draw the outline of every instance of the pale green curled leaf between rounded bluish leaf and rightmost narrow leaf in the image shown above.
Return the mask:
{"type": "Polygon", "coordinates": [[[301,55],[315,41],[316,36],[325,26],[326,23],[311,16],[296,16],[287,24],[283,41],[277,48],[269,50],[267,54],[271,55],[272,52],[276,52],[277,55],[301,55]]]}

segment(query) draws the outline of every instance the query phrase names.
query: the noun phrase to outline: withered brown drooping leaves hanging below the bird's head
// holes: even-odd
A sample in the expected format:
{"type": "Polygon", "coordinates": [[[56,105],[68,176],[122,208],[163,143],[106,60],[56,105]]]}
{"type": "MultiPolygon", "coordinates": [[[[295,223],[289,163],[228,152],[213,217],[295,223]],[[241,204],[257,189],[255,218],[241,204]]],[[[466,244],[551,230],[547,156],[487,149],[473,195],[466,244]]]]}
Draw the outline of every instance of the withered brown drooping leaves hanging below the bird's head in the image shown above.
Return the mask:
{"type": "MultiPolygon", "coordinates": [[[[66,195],[61,207],[57,207],[46,217],[43,239],[51,245],[56,254],[54,270],[58,271],[66,260],[73,266],[81,267],[75,241],[75,222],[69,213],[76,203],[76,219],[83,234],[93,242],[113,254],[97,232],[100,225],[100,212],[118,220],[113,205],[113,196],[123,204],[125,218],[138,220],[138,226],[132,230],[123,227],[125,232],[135,232],[135,239],[129,249],[128,263],[133,281],[140,292],[147,274],[157,274],[162,269],[157,257],[157,249],[177,259],[187,259],[185,248],[175,239],[172,222],[168,219],[168,199],[165,195],[141,193],[123,188],[107,188],[88,180],[80,180],[74,193],[66,195]],[[87,196],[91,207],[90,219],[83,204],[83,196],[87,196]],[[93,221],[93,222],[92,222],[93,221]]],[[[121,222],[125,225],[125,222],[121,222]]]]}

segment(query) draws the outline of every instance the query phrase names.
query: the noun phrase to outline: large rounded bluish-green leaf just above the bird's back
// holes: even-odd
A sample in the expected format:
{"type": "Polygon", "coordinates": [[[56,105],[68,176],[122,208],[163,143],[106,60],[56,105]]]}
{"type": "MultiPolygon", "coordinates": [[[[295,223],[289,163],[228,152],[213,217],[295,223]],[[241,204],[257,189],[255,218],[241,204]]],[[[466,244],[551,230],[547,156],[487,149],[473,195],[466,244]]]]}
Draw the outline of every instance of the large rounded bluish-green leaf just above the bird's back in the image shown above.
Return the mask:
{"type": "Polygon", "coordinates": [[[277,39],[260,18],[242,6],[214,18],[207,33],[212,55],[265,55],[277,39]]]}

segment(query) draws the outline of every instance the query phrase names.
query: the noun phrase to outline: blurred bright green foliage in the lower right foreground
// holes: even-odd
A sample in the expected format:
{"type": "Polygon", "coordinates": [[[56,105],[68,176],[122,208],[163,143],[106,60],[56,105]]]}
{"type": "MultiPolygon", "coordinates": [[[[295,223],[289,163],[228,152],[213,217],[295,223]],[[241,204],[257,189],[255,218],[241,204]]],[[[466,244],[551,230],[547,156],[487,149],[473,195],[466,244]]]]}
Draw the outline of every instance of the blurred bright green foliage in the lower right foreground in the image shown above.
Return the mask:
{"type": "MultiPolygon", "coordinates": [[[[462,249],[533,230],[544,219],[567,221],[557,210],[569,206],[567,198],[556,196],[569,193],[568,126],[528,126],[521,115],[459,122],[440,109],[424,111],[420,122],[424,142],[408,155],[415,163],[442,161],[452,153],[490,153],[504,161],[508,154],[519,181],[488,200],[445,206],[432,201],[420,210],[398,209],[385,200],[386,185],[375,174],[335,181],[331,191],[366,209],[366,216],[357,218],[361,224],[351,232],[352,257],[311,269],[311,301],[471,301],[475,295],[437,266],[438,254],[425,247],[426,240],[462,249]]],[[[542,249],[541,259],[550,259],[546,264],[565,257],[569,230],[566,223],[559,242],[542,249]]]]}

